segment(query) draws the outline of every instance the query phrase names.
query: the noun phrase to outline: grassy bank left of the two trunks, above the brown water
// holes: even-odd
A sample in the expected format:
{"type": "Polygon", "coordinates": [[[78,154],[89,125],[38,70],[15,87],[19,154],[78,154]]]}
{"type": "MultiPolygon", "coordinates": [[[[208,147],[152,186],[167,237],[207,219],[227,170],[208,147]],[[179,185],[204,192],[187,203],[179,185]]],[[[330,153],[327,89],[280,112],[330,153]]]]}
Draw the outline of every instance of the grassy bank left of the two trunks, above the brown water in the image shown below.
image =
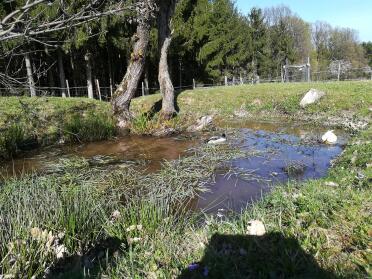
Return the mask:
{"type": "Polygon", "coordinates": [[[91,141],[116,131],[109,104],[86,98],[1,97],[0,158],[57,141],[91,141]]]}

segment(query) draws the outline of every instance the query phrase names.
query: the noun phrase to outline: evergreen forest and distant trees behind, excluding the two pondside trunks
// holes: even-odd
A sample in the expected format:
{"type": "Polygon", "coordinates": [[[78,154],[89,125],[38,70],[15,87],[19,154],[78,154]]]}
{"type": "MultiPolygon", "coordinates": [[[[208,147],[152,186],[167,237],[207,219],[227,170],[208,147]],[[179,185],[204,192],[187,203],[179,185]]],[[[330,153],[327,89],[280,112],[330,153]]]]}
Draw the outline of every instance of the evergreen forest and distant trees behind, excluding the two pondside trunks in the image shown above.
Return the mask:
{"type": "MultiPolygon", "coordinates": [[[[64,11],[73,13],[84,1],[61,3],[66,5],[64,11]]],[[[2,2],[1,18],[21,2],[2,2]]],[[[60,2],[35,9],[32,15],[39,13],[40,21],[56,17],[60,2]]],[[[24,60],[28,56],[39,86],[65,88],[65,79],[72,87],[84,86],[91,69],[93,79],[115,87],[126,72],[136,31],[136,23],[127,17],[126,12],[113,14],[46,34],[40,39],[43,44],[37,39],[2,42],[1,71],[24,82],[24,60]]],[[[146,80],[150,88],[158,88],[158,30],[155,22],[150,24],[141,80],[146,80]]],[[[307,23],[285,6],[252,8],[243,15],[230,0],[182,0],[176,7],[172,32],[169,68],[176,86],[190,85],[193,78],[199,83],[221,82],[225,75],[275,78],[280,76],[286,59],[296,64],[310,57],[314,72],[327,70],[332,61],[347,61],[360,68],[371,59],[367,55],[371,43],[360,44],[356,31],[333,28],[326,22],[307,23]]]]}

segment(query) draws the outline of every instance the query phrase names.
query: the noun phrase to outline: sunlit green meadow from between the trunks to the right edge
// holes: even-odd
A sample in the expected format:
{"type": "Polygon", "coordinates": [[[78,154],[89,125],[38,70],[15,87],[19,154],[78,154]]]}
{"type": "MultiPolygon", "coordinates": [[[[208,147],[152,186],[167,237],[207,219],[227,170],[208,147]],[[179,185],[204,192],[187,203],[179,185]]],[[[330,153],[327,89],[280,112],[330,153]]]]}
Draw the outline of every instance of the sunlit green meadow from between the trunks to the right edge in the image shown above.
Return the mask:
{"type": "MultiPolygon", "coordinates": [[[[160,95],[141,97],[133,101],[135,114],[151,110],[160,95]]],[[[311,120],[320,124],[349,127],[370,117],[372,82],[329,83],[275,83],[215,87],[187,90],[177,97],[180,113],[174,125],[180,130],[204,115],[215,115],[217,121],[236,118],[235,112],[243,109],[248,118],[272,120],[311,120]],[[300,108],[300,100],[310,89],[326,93],[317,104],[300,108]]]]}

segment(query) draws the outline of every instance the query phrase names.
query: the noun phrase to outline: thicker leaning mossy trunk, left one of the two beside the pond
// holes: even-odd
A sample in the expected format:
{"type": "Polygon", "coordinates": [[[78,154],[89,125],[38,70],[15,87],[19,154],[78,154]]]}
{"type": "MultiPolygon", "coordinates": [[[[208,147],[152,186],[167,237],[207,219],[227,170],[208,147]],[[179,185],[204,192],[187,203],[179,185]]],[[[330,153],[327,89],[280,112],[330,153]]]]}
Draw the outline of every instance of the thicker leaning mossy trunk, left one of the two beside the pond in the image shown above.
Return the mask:
{"type": "Polygon", "coordinates": [[[148,20],[139,23],[133,37],[134,46],[127,72],[116,89],[111,105],[120,132],[126,132],[131,120],[129,106],[145,67],[145,57],[149,44],[150,25],[148,20]]]}

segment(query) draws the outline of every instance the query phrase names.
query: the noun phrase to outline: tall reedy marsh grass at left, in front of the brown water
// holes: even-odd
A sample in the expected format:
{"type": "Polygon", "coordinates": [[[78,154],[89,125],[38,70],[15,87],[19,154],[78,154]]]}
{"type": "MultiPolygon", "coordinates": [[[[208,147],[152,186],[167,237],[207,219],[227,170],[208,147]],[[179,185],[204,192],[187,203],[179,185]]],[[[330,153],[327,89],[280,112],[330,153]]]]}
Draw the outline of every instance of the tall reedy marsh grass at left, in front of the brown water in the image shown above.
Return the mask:
{"type": "Polygon", "coordinates": [[[63,233],[69,255],[108,237],[125,243],[136,237],[124,230],[134,224],[141,224],[146,236],[155,235],[171,227],[166,218],[180,222],[185,201],[206,190],[221,163],[239,155],[227,146],[204,146],[150,174],[131,166],[107,172],[84,159],[63,159],[45,175],[6,180],[0,189],[0,273],[30,278],[53,267],[56,255],[32,238],[35,227],[63,233]],[[118,220],[112,219],[115,210],[121,212],[118,220]]]}

